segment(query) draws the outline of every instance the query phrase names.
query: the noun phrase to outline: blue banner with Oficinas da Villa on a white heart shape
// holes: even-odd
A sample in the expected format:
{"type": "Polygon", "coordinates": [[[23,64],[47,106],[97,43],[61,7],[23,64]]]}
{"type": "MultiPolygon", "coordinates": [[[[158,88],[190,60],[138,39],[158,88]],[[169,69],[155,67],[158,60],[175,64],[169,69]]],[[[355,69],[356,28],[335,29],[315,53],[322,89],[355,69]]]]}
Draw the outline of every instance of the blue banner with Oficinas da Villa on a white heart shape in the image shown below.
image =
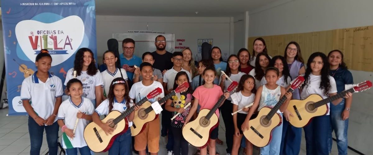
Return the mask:
{"type": "Polygon", "coordinates": [[[62,83],[79,48],[90,48],[97,59],[94,0],[2,0],[1,11],[9,115],[27,114],[20,90],[22,81],[37,71],[41,49],[48,49],[53,59],[49,71],[62,83]]]}

